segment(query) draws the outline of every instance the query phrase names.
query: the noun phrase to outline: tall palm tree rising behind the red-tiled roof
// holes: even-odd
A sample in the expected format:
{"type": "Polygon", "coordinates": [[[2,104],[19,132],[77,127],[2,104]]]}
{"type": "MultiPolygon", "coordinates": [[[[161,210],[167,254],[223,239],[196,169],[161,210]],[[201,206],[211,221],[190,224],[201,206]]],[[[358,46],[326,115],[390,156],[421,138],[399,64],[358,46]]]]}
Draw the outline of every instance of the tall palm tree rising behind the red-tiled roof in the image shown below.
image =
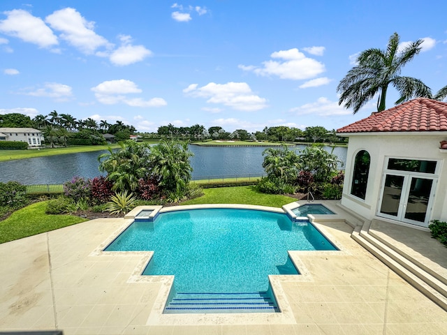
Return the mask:
{"type": "Polygon", "coordinates": [[[400,93],[396,105],[414,97],[431,98],[430,87],[422,81],[400,75],[404,65],[420,52],[422,43],[423,40],[416,40],[400,51],[399,35],[394,33],[388,41],[386,50],[372,48],[361,52],[357,58],[358,65],[351,68],[337,86],[337,92],[341,94],[339,105],[344,103],[344,107],[352,107],[353,114],[356,114],[379,93],[377,111],[381,112],[386,109],[386,92],[389,84],[400,93]]]}

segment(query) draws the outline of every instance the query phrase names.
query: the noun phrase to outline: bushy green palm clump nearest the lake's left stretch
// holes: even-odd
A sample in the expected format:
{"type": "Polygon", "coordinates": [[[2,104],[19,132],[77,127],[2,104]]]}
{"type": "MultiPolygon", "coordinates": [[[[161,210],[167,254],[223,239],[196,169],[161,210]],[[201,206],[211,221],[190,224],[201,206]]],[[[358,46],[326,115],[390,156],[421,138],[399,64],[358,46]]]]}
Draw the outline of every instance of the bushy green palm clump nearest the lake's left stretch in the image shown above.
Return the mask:
{"type": "Polygon", "coordinates": [[[107,172],[106,179],[111,181],[113,191],[135,191],[138,181],[151,174],[151,152],[149,144],[126,141],[119,143],[121,149],[98,156],[99,170],[107,172]]]}

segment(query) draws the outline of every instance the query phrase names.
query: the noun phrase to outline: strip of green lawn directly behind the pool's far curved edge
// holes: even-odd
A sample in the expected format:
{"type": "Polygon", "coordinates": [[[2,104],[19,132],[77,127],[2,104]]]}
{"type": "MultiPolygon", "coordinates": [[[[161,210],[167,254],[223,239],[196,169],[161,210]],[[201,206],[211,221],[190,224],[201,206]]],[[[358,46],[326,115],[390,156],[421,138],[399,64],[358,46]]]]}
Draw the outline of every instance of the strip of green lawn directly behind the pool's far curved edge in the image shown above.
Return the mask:
{"type": "Polygon", "coordinates": [[[282,207],[296,201],[286,195],[264,194],[254,190],[254,186],[233,186],[205,188],[205,195],[182,202],[182,204],[257,204],[259,206],[282,207]]]}

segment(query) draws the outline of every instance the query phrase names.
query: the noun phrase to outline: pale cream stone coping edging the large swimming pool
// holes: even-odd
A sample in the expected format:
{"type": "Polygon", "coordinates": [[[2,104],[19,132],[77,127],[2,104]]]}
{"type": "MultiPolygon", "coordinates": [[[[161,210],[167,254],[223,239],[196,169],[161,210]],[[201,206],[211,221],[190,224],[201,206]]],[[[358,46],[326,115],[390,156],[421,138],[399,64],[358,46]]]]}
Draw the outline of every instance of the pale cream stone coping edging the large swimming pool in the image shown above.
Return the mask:
{"type": "MultiPolygon", "coordinates": [[[[299,207],[298,202],[292,202],[286,204],[282,208],[267,207],[248,204],[195,204],[184,206],[139,206],[135,207],[129,214],[124,217],[126,220],[124,224],[115,230],[110,236],[103,241],[98,247],[90,253],[92,257],[124,257],[126,255],[141,255],[141,259],[138,265],[133,269],[133,272],[129,274],[127,283],[159,283],[161,285],[159,294],[157,295],[152,311],[149,314],[146,325],[215,325],[219,323],[230,323],[233,325],[259,325],[259,324],[278,324],[278,325],[290,325],[294,324],[295,316],[293,315],[293,308],[289,303],[286,292],[282,288],[282,283],[299,283],[299,282],[312,282],[312,274],[305,266],[304,262],[300,259],[305,255],[351,255],[344,246],[337,241],[337,239],[325,230],[323,225],[318,222],[328,221],[343,221],[344,218],[337,214],[321,214],[311,215],[309,214],[309,221],[323,236],[330,241],[330,243],[337,248],[335,251],[288,251],[288,255],[293,262],[293,265],[300,271],[298,275],[269,275],[269,283],[272,288],[274,298],[277,300],[277,306],[279,307],[279,313],[177,313],[177,314],[163,314],[166,302],[168,301],[170,290],[174,283],[175,276],[147,276],[142,275],[142,272],[147,267],[147,264],[152,259],[154,251],[104,251],[104,249],[114,241],[119,234],[124,232],[133,222],[138,213],[142,210],[152,210],[149,217],[156,218],[161,213],[167,213],[170,211],[182,211],[189,209],[213,209],[213,208],[225,208],[225,209],[253,209],[261,211],[272,211],[279,214],[287,214],[290,217],[288,211],[299,207]],[[325,218],[330,216],[330,218],[325,218]]],[[[332,209],[331,209],[332,210],[332,209]]],[[[291,212],[293,214],[293,212],[291,212]]],[[[295,215],[295,214],[293,214],[295,215]]],[[[296,217],[296,215],[295,215],[296,217]]]]}

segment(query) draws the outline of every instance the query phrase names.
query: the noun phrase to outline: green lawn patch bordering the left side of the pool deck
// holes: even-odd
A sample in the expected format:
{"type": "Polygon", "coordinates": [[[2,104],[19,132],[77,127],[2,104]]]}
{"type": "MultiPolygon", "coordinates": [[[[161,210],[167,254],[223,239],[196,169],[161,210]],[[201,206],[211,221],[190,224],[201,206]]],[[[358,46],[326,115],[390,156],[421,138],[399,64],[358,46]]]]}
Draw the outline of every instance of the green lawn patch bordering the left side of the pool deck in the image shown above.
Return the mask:
{"type": "Polygon", "coordinates": [[[78,216],[47,215],[45,214],[46,207],[46,201],[36,202],[15,211],[6,220],[0,221],[0,243],[87,221],[78,216]]]}

